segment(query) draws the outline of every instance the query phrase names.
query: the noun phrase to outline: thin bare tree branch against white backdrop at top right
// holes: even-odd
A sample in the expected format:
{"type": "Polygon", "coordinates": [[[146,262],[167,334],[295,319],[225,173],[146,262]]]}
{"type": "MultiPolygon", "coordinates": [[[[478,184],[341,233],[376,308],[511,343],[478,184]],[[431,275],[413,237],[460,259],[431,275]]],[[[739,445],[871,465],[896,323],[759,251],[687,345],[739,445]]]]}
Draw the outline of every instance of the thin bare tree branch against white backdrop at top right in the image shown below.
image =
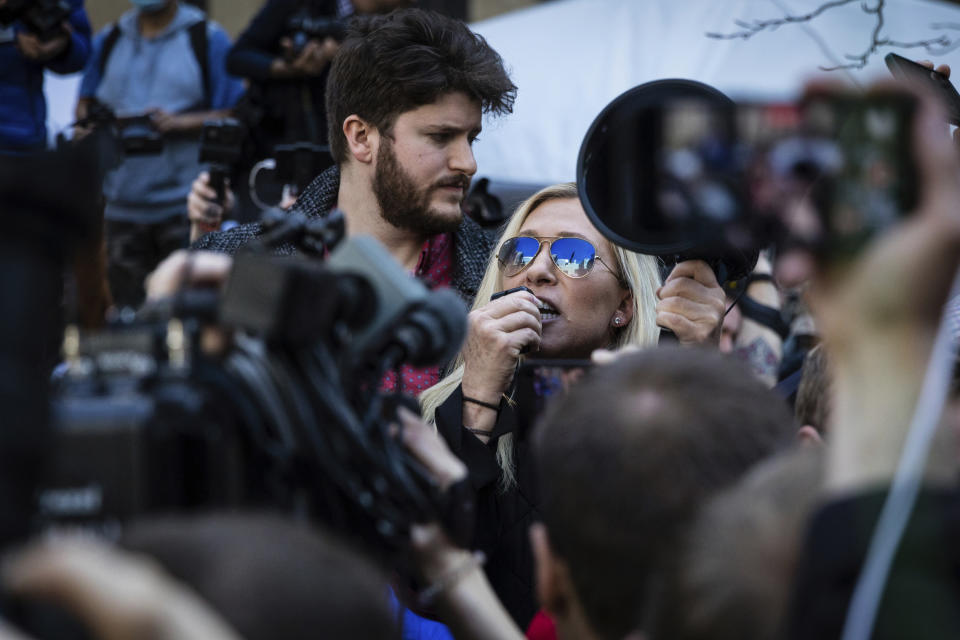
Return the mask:
{"type": "MultiPolygon", "coordinates": [[[[837,7],[842,7],[844,5],[852,4],[853,2],[860,2],[861,10],[868,14],[875,16],[875,23],[873,26],[872,33],[870,35],[870,43],[867,46],[866,50],[859,55],[845,54],[844,57],[847,60],[850,60],[848,64],[834,65],[832,67],[820,67],[824,71],[837,71],[842,69],[862,69],[867,66],[867,63],[870,61],[870,58],[878,52],[881,47],[896,47],[901,49],[916,49],[923,48],[927,53],[931,55],[943,55],[948,51],[953,51],[957,47],[960,47],[960,39],[951,38],[947,35],[940,35],[936,38],[929,38],[927,40],[916,40],[913,42],[901,42],[899,40],[892,40],[884,35],[882,35],[884,27],[884,15],[883,10],[886,6],[886,0],[876,0],[875,6],[870,6],[866,0],[832,0],[830,2],[825,2],[814,11],[806,13],[803,15],[786,15],[782,18],[772,18],[769,20],[734,20],[734,24],[741,28],[741,31],[736,31],[733,33],[714,33],[708,32],[706,36],[708,38],[714,38],[718,40],[733,40],[741,39],[747,40],[748,38],[753,37],[754,35],[760,33],[761,31],[774,31],[779,27],[782,27],[786,24],[796,24],[810,22],[822,13],[829,11],[830,9],[835,9],[837,7]]],[[[939,22],[931,25],[932,29],[935,30],[951,30],[951,31],[960,31],[960,24],[952,22],[939,22]]]]}

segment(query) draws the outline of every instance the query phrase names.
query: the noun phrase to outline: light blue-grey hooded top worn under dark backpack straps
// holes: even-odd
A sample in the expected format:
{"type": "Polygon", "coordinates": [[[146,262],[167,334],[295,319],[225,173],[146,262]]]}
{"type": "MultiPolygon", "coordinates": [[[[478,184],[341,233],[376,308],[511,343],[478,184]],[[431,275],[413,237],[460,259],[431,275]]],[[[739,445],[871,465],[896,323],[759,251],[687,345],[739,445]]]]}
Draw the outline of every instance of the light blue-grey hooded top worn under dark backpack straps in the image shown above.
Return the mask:
{"type": "MultiPolygon", "coordinates": [[[[243,83],[227,75],[230,38],[213,22],[207,23],[207,66],[210,105],[204,105],[203,73],[190,44],[190,26],[205,19],[202,11],[181,4],[167,28],[144,38],[137,28],[138,9],[117,21],[120,37],[100,74],[104,41],[113,29],[107,25],[93,42],[93,55],[84,71],[80,97],[96,97],[118,116],[150,109],[170,113],[232,107],[243,93],[243,83]]],[[[131,156],[111,171],[103,185],[108,220],[161,222],[186,216],[190,184],[201,166],[199,140],[169,138],[159,155],[131,156]]]]}

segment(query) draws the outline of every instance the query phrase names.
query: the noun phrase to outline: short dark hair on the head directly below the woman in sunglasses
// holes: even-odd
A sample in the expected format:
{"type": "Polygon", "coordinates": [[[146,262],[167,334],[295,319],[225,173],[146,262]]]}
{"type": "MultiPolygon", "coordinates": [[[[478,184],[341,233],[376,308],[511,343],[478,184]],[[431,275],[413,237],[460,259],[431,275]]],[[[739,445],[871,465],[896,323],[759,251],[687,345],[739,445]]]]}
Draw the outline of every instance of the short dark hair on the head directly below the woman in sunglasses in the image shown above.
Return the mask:
{"type": "Polygon", "coordinates": [[[549,408],[534,436],[540,510],[601,638],[647,628],[697,506],[792,430],[779,397],[702,349],[624,357],[549,408]]]}

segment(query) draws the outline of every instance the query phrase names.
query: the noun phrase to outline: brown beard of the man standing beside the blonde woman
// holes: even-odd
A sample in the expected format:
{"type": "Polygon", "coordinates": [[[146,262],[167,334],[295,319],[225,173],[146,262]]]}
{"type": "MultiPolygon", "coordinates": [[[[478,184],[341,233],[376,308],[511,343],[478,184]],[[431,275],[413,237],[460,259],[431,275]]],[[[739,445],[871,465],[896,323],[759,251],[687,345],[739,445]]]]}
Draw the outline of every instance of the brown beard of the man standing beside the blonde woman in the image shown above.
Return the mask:
{"type": "Polygon", "coordinates": [[[470,178],[457,175],[426,189],[418,189],[413,179],[397,162],[390,138],[382,136],[381,140],[383,143],[377,153],[377,169],[373,176],[373,193],[377,197],[383,219],[399,229],[423,236],[456,231],[463,215],[447,216],[431,211],[430,199],[442,186],[463,187],[463,193],[466,194],[470,187],[470,178]]]}

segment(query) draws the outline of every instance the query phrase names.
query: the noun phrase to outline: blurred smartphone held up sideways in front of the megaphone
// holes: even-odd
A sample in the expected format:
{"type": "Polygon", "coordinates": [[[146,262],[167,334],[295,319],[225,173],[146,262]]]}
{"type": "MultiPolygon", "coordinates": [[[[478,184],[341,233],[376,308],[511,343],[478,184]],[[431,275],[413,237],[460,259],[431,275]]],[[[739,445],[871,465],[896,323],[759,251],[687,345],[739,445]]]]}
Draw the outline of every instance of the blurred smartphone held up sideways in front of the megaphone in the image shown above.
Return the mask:
{"type": "Polygon", "coordinates": [[[914,97],[816,94],[718,110],[671,105],[659,149],[660,209],[730,246],[793,244],[852,256],[916,206],[914,97]]]}

